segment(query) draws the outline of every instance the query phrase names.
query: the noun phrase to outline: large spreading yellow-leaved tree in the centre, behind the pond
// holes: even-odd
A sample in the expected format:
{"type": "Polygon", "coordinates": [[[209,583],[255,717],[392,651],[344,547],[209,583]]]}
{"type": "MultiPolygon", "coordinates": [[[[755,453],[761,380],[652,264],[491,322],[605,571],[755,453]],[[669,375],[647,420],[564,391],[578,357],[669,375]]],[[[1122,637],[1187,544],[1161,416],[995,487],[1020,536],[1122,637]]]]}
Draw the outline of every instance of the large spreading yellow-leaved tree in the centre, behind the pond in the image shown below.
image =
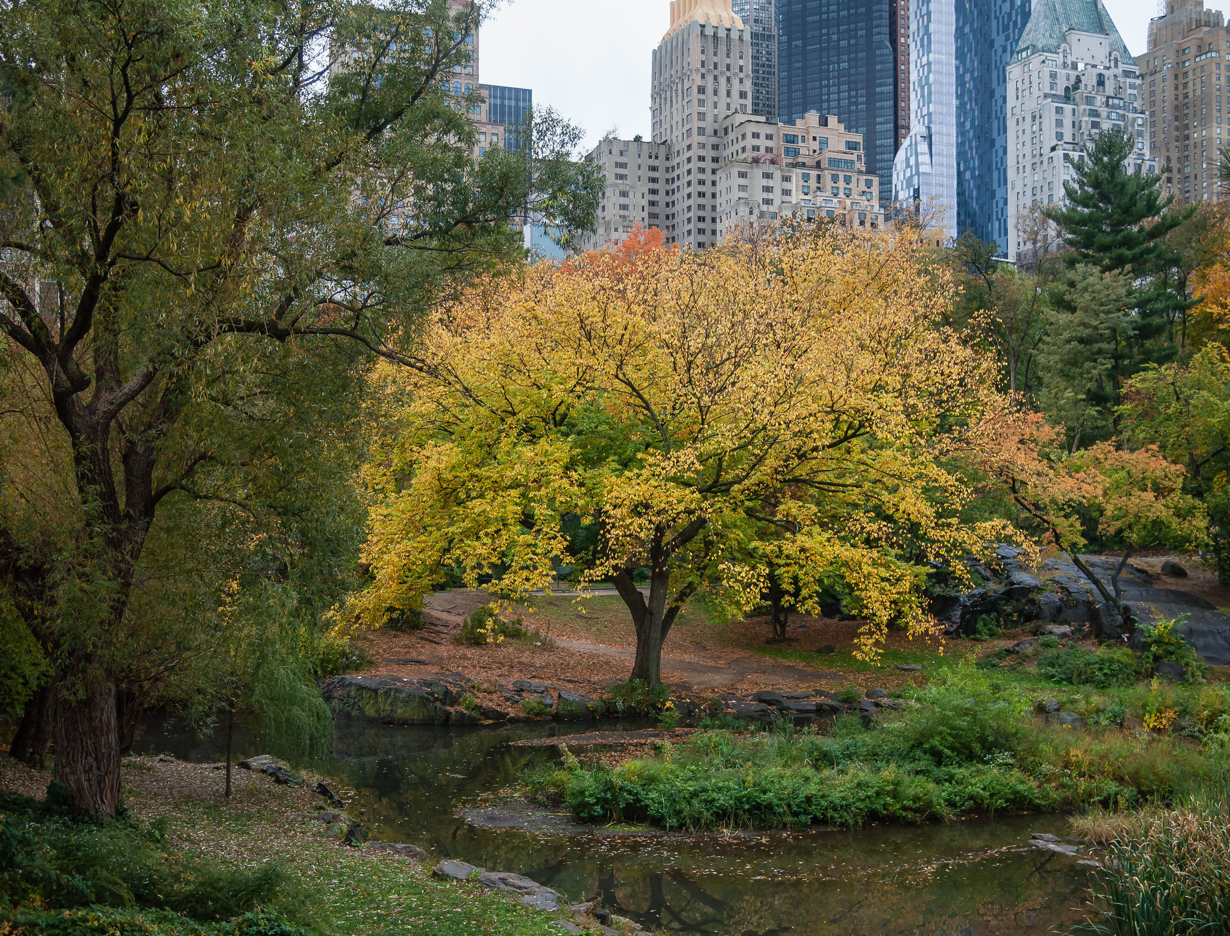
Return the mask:
{"type": "Polygon", "coordinates": [[[839,576],[867,653],[893,621],[925,630],[922,562],[988,536],[943,461],[994,363],[940,325],[951,285],[921,260],[910,235],[802,230],[470,290],[428,327],[428,368],[383,371],[353,613],[379,626],[458,566],[524,594],[563,558],[614,582],[651,684],[691,598],[744,611],[770,573],[803,610],[839,576]]]}

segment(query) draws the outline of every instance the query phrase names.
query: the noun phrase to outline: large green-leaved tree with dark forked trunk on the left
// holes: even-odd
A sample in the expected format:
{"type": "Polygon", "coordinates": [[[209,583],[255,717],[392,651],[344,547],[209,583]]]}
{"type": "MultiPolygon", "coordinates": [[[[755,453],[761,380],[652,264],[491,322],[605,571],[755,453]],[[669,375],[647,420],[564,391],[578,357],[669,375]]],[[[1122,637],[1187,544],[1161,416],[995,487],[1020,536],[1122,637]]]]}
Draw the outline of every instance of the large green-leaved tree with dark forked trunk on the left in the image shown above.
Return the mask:
{"type": "MultiPolygon", "coordinates": [[[[0,332],[48,399],[70,485],[30,621],[59,679],[55,775],[119,796],[114,667],[159,513],[219,458],[210,387],[304,384],[332,346],[418,362],[424,309],[520,256],[509,218],[585,228],[577,134],[482,159],[461,87],[483,4],[48,0],[0,10],[0,332]],[[454,90],[461,93],[454,93],[454,90]],[[476,149],[476,148],[475,148],[476,149]],[[264,364],[294,348],[298,367],[264,364]]],[[[0,569],[42,568],[4,503],[0,569]]],[[[37,518],[36,518],[37,519],[37,518]]],[[[37,526],[37,523],[33,524],[37,526]]],[[[46,542],[46,541],[43,541],[46,542]]],[[[27,577],[28,578],[28,577],[27,577]]],[[[5,587],[12,585],[12,577],[5,587]]]]}

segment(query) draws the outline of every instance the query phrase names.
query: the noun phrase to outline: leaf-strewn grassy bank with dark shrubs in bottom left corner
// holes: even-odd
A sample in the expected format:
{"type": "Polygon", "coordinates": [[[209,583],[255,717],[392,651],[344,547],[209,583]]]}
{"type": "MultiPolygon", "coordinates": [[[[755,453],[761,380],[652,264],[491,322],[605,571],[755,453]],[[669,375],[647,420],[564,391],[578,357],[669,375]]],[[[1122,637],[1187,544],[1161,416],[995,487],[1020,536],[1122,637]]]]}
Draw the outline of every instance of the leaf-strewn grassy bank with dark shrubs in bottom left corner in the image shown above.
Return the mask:
{"type": "Polygon", "coordinates": [[[139,814],[146,803],[138,799],[134,819],[87,827],[25,807],[15,809],[9,797],[0,808],[0,932],[558,935],[550,927],[552,916],[506,895],[478,884],[442,881],[412,862],[364,854],[325,838],[320,824],[303,814],[296,820],[285,803],[277,802],[293,795],[271,785],[267,809],[191,799],[160,802],[149,804],[164,811],[154,822],[139,814]],[[79,839],[74,847],[65,847],[65,835],[79,839]],[[82,847],[80,839],[95,841],[82,847]],[[164,868],[176,872],[170,889],[162,877],[161,893],[149,893],[148,884],[164,868]],[[262,881],[264,889],[257,894],[252,883],[260,890],[262,881]],[[200,887],[202,882],[210,887],[200,887]],[[223,886],[220,893],[229,904],[216,906],[200,899],[202,894],[218,897],[213,884],[223,886]],[[192,892],[196,903],[183,899],[192,892]],[[178,911],[167,909],[169,904],[178,911]]]}

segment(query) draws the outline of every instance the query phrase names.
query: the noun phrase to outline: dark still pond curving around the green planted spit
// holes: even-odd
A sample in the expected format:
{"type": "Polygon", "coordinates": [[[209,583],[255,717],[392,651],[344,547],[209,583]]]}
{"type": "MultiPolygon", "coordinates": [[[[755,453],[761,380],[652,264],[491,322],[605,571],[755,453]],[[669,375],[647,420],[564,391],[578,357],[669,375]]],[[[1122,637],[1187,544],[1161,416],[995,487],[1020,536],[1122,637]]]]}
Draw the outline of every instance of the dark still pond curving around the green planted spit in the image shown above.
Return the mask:
{"type": "MultiPolygon", "coordinates": [[[[594,727],[338,723],[326,772],[357,791],[348,811],[370,838],[525,875],[569,900],[600,894],[604,906],[664,932],[1041,936],[1082,915],[1074,909],[1089,884],[1081,868],[1016,850],[1031,833],[1063,835],[1064,819],[1057,815],[737,836],[613,834],[588,827],[530,831],[481,828],[462,818],[465,807],[515,785],[525,767],[554,756],[551,748],[512,742],[594,727]]],[[[237,756],[261,753],[245,748],[237,745],[237,756]]],[[[137,750],[216,760],[220,740],[150,726],[137,750]]]]}

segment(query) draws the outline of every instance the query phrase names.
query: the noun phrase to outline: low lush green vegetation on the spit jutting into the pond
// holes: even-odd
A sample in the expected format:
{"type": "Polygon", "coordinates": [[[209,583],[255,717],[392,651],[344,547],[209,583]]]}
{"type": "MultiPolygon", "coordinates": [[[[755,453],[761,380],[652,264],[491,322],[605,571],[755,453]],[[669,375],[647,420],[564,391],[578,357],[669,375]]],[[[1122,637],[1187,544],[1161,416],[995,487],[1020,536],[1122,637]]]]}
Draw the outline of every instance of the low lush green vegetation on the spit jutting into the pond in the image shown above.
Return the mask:
{"type": "MultiPolygon", "coordinates": [[[[528,775],[526,783],[588,822],[689,830],[851,827],[1167,803],[1224,760],[1215,732],[1198,747],[1177,734],[1038,723],[1031,712],[1049,691],[966,663],[936,670],[930,685],[913,690],[916,708],[881,712],[872,729],[847,716],[827,734],[707,731],[615,767],[566,760],[562,769],[528,775]]],[[[1225,701],[1215,690],[1182,699],[1170,686],[1133,691],[1141,712],[1198,713],[1204,705],[1207,717],[1225,701]]],[[[1069,700],[1082,702],[1090,718],[1118,705],[1076,691],[1069,700]]]]}

